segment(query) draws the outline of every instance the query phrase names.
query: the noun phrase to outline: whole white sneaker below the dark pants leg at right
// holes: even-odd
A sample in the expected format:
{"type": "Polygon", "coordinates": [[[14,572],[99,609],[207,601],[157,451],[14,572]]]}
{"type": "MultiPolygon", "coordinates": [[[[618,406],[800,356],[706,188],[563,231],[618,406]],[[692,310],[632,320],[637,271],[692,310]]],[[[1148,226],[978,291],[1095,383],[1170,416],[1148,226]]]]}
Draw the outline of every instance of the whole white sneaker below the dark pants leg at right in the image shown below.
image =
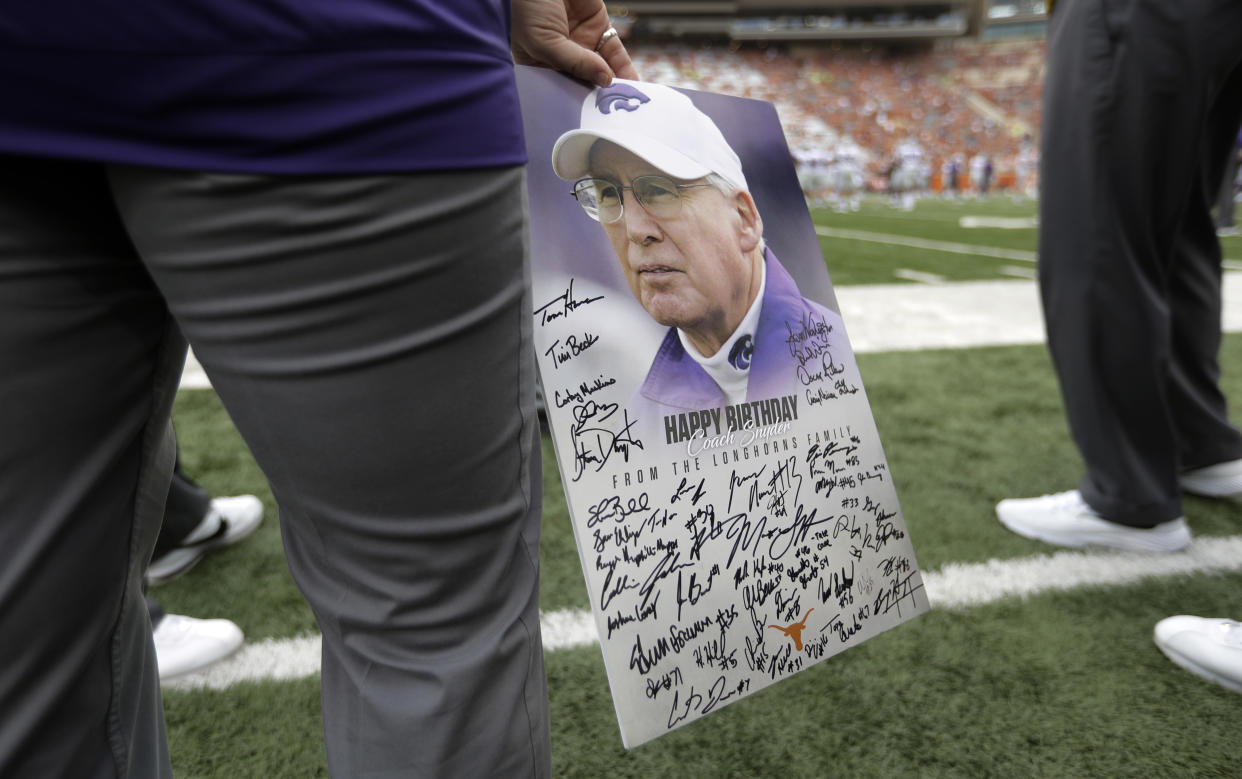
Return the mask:
{"type": "Polygon", "coordinates": [[[1190,543],[1182,517],[1154,528],[1131,528],[1104,519],[1077,490],[996,504],[1001,524],[1018,535],[1059,547],[1112,547],[1129,552],[1176,552],[1190,543]]]}

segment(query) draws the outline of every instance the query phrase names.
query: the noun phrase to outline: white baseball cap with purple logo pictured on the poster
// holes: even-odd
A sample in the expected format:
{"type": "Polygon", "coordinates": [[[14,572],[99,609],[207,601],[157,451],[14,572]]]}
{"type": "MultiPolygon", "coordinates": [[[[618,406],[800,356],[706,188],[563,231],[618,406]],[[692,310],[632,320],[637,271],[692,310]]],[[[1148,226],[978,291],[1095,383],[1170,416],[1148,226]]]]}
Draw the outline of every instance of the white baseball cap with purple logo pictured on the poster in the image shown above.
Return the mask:
{"type": "Polygon", "coordinates": [[[702,179],[709,173],[749,191],[741,160],[720,128],[672,87],[614,78],[582,101],[579,129],[556,139],[551,166],[574,181],[589,175],[591,147],[611,140],[674,179],[702,179]]]}

